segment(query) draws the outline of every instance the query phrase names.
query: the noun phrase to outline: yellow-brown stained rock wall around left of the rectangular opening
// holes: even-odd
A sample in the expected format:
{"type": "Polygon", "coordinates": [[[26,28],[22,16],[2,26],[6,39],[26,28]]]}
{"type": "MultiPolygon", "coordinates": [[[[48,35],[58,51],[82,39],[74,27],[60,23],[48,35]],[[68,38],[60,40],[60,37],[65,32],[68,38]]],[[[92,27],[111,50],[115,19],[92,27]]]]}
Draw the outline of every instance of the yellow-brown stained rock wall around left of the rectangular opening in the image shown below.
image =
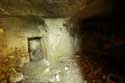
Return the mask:
{"type": "Polygon", "coordinates": [[[32,17],[0,18],[0,67],[3,70],[29,62],[27,40],[42,37],[38,27],[43,26],[32,17]]]}

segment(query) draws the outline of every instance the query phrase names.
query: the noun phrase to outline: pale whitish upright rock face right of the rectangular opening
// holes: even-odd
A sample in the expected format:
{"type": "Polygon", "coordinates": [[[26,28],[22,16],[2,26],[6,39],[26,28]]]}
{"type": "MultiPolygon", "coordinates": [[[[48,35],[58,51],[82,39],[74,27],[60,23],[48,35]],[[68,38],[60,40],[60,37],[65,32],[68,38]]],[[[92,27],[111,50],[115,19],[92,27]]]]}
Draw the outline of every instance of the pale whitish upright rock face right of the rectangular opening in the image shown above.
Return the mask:
{"type": "Polygon", "coordinates": [[[64,26],[67,18],[46,18],[47,32],[45,35],[47,55],[51,63],[56,63],[62,57],[71,57],[79,46],[78,39],[70,35],[68,27],[64,26]]]}

